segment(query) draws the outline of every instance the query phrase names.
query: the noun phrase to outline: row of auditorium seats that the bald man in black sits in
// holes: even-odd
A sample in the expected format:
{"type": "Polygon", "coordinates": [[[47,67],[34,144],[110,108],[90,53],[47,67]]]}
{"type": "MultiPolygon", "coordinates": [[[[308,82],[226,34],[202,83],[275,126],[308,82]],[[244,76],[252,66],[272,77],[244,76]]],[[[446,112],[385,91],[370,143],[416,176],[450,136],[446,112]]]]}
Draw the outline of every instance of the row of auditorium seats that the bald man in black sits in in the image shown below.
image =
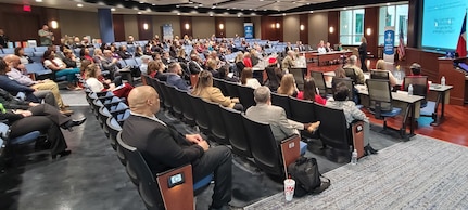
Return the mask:
{"type": "Polygon", "coordinates": [[[148,209],[193,209],[193,194],[198,195],[212,181],[213,174],[197,183],[192,183],[191,166],[169,170],[161,174],[152,174],[137,148],[125,144],[121,137],[122,126],[129,116],[128,106],[123,99],[112,92],[87,93],[98,121],[111,140],[112,147],[121,163],[125,167],[130,181],[138,187],[140,196],[148,209]],[[184,173],[185,182],[176,188],[168,186],[170,176],[184,173]],[[184,191],[181,191],[184,189],[184,191]],[[190,193],[193,192],[193,193],[190,193]],[[174,198],[185,198],[185,202],[174,202],[174,198]]]}

